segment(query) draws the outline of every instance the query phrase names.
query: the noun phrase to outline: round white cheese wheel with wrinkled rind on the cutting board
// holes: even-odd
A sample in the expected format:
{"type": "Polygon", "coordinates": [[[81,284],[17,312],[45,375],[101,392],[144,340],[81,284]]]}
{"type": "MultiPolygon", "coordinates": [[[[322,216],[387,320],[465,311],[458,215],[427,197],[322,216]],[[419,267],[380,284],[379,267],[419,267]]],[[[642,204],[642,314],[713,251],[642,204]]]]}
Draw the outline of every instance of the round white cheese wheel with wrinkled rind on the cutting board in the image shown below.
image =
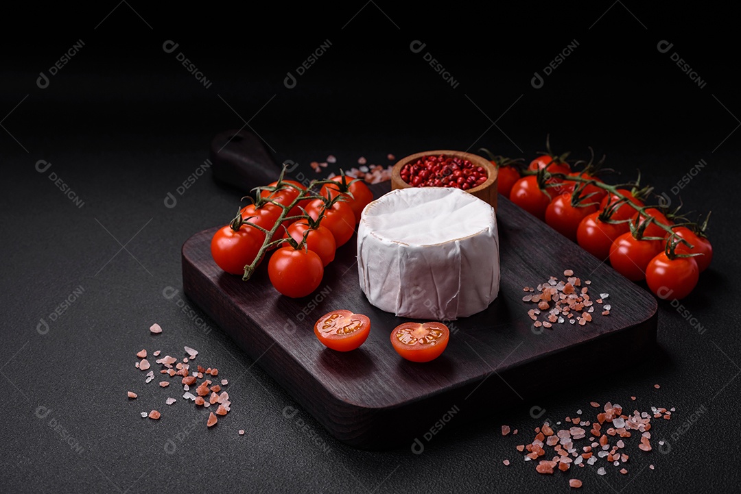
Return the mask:
{"type": "Polygon", "coordinates": [[[499,294],[494,208],[460,189],[385,194],[363,210],[357,248],[363,293],[399,317],[468,317],[499,294]]]}

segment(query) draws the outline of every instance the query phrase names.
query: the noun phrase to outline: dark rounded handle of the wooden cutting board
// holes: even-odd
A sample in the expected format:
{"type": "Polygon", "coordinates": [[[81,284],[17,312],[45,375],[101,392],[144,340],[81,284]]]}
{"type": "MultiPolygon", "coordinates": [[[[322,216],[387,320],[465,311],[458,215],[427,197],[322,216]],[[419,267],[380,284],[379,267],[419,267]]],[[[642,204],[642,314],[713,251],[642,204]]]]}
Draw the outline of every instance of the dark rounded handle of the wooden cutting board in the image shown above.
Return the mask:
{"type": "Polygon", "coordinates": [[[213,177],[248,194],[275,180],[281,172],[262,141],[245,129],[220,132],[211,140],[213,177]]]}

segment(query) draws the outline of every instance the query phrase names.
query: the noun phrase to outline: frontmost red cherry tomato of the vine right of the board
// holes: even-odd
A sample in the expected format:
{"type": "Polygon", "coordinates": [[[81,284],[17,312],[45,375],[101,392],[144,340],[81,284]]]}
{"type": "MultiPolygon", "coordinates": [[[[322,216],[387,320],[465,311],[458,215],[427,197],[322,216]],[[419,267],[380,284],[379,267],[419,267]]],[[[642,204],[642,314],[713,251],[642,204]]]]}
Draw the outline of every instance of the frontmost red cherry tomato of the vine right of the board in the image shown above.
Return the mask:
{"type": "MultiPolygon", "coordinates": [[[[698,256],[699,257],[699,256],[698,256]]],[[[697,257],[674,257],[658,254],[646,267],[646,283],[657,297],[679,300],[687,297],[700,278],[697,257]]]]}

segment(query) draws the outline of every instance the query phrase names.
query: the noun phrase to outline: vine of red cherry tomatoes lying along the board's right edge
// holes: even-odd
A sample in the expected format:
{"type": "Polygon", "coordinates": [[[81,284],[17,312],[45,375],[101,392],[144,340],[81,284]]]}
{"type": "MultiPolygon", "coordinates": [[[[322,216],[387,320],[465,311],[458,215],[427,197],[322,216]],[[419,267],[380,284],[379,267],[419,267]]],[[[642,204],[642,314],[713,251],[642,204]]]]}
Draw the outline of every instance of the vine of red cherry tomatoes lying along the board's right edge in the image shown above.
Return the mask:
{"type": "Polygon", "coordinates": [[[650,189],[610,186],[597,177],[599,166],[591,160],[581,171],[572,170],[568,153],[554,155],[550,146],[523,170],[482,150],[498,168],[499,194],[628,279],[645,281],[657,297],[686,297],[708,268],[713,251],[706,223],[675,223],[674,214],[645,203],[650,189]]]}

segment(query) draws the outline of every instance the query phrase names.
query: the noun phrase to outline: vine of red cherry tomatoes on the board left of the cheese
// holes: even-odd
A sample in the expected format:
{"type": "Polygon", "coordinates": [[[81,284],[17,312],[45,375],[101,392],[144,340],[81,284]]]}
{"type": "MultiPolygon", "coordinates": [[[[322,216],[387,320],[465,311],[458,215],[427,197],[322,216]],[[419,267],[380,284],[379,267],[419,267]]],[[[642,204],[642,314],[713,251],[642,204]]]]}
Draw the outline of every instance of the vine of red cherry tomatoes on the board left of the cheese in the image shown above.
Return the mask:
{"type": "Polygon", "coordinates": [[[268,261],[273,287],[287,297],[306,297],[319,288],[325,266],[350,240],[373,194],[344,174],[309,187],[281,176],[258,190],[256,201],[213,235],[213,260],[247,280],[274,249],[268,261]]]}

